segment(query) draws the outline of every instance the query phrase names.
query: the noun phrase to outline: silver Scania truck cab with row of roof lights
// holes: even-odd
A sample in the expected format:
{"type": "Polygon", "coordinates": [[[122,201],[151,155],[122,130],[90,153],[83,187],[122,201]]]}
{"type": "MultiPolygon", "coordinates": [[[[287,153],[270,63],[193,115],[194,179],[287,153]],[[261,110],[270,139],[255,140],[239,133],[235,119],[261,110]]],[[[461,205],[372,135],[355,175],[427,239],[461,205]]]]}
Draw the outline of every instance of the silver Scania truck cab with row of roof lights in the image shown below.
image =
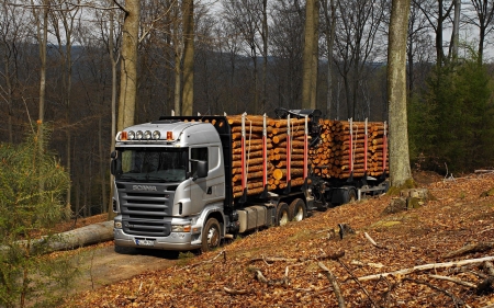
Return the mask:
{"type": "Polygon", "coordinates": [[[210,123],[156,121],[119,132],[111,164],[115,248],[216,247],[225,235],[223,164],[210,123]]]}

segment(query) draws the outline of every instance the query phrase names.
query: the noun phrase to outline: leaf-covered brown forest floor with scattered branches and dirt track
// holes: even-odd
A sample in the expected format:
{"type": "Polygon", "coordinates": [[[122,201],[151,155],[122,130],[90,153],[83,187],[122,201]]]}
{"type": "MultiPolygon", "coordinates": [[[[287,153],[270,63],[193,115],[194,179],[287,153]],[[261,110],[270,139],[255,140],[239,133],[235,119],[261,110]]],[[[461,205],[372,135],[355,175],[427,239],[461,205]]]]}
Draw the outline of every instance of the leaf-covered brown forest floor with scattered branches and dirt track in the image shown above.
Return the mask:
{"type": "Polygon", "coordinates": [[[419,208],[383,214],[392,196],[381,195],[201,255],[83,248],[86,274],[60,307],[338,307],[329,272],[346,307],[494,307],[492,281],[478,287],[487,277],[478,259],[494,259],[494,196],[481,196],[494,173],[414,179],[434,196],[419,208]],[[338,224],[355,233],[330,237],[338,224]]]}

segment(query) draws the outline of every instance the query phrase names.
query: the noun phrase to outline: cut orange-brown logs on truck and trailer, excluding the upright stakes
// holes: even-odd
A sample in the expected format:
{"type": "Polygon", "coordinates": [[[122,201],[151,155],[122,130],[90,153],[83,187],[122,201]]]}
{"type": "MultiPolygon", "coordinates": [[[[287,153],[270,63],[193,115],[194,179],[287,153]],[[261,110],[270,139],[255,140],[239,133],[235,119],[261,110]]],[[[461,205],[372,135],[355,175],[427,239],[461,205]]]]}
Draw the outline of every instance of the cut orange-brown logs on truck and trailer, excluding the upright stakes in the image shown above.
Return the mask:
{"type": "MultiPolygon", "coordinates": [[[[242,115],[227,116],[232,129],[232,181],[234,197],[243,195],[242,190],[242,115]]],[[[262,122],[261,115],[247,115],[246,129],[246,170],[247,194],[256,195],[263,192],[262,185],[262,122]]],[[[322,178],[346,179],[350,176],[349,136],[350,124],[345,121],[322,119],[321,140],[308,152],[308,168],[314,175],[322,178]]],[[[287,119],[267,117],[267,149],[268,149],[268,191],[287,187],[287,119]]],[[[353,176],[364,174],[363,158],[368,157],[368,174],[383,173],[383,135],[384,123],[368,124],[368,151],[364,152],[364,123],[352,122],[353,128],[353,176]]],[[[304,118],[291,118],[291,186],[304,183],[304,118]]],[[[310,140],[311,141],[311,140],[310,140]]],[[[386,162],[388,172],[388,162],[386,162]]]]}

